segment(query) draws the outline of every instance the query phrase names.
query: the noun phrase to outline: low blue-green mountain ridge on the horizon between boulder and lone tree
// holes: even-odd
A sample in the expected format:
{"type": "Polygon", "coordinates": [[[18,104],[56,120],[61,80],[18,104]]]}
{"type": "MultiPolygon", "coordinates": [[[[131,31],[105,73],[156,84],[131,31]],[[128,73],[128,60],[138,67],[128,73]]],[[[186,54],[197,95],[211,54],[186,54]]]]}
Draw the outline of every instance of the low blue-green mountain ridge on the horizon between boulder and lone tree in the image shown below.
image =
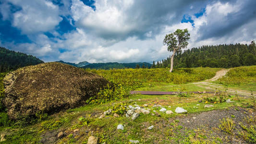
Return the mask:
{"type": "Polygon", "coordinates": [[[82,68],[90,68],[90,69],[124,69],[124,68],[132,68],[135,69],[136,65],[139,65],[140,68],[143,67],[143,64],[145,68],[150,68],[152,64],[148,62],[133,62],[133,63],[118,63],[118,62],[107,62],[107,63],[91,63],[86,66],[83,66],[82,68]]]}

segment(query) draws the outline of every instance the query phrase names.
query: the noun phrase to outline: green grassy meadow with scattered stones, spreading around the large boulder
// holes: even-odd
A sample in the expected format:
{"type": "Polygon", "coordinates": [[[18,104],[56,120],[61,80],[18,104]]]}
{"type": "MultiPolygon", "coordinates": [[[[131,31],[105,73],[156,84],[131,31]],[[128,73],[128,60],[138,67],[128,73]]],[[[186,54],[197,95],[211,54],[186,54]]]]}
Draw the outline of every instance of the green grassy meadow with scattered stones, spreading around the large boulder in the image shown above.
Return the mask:
{"type": "MultiPolygon", "coordinates": [[[[233,139],[243,143],[256,143],[255,102],[252,96],[231,95],[222,87],[234,87],[250,92],[248,84],[256,89],[256,66],[231,69],[226,76],[213,82],[211,87],[215,94],[187,95],[129,95],[130,90],[143,91],[205,91],[195,82],[205,82],[215,76],[220,68],[186,68],[175,69],[122,69],[122,70],[89,70],[111,81],[115,90],[100,92],[96,98],[105,101],[91,103],[61,111],[53,115],[38,114],[35,118],[23,121],[11,121],[6,117],[4,108],[0,115],[0,133],[5,134],[3,144],[87,144],[89,136],[97,136],[99,144],[129,144],[129,140],[138,140],[141,144],[228,144],[233,139]],[[243,76],[243,78],[239,78],[243,76]],[[214,87],[214,84],[219,86],[214,87]],[[244,86],[247,85],[247,86],[244,86]],[[222,86],[222,87],[221,87],[222,86]],[[116,96],[117,98],[108,97],[116,96]],[[226,103],[231,99],[232,103],[226,103]],[[125,117],[123,106],[138,105],[150,109],[149,114],[142,114],[135,120],[125,117]],[[160,112],[161,105],[173,114],[160,112]],[[213,107],[205,108],[210,104],[213,107]],[[177,107],[187,110],[178,114],[177,107]],[[119,117],[113,114],[99,119],[104,111],[112,108],[119,117]],[[157,115],[156,111],[160,116],[157,115]],[[214,121],[212,121],[214,120],[214,121]],[[27,121],[27,122],[25,122],[27,121]],[[4,124],[8,122],[7,124],[4,124]],[[124,130],[117,130],[122,124],[124,130]],[[152,130],[147,128],[154,125],[152,130]],[[228,127],[227,127],[228,126],[228,127]],[[57,138],[64,132],[62,138],[57,138]]],[[[4,94],[0,74],[1,97],[4,94]]],[[[210,82],[209,82],[210,83],[210,82]]]]}

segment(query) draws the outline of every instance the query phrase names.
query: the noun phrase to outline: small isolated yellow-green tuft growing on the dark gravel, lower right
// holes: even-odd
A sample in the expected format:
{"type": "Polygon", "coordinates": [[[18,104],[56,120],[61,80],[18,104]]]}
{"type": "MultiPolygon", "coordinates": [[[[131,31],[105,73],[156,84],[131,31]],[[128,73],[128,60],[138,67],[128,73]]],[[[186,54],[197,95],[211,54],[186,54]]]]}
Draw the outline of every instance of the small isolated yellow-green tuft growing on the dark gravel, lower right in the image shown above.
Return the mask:
{"type": "Polygon", "coordinates": [[[223,120],[220,120],[219,128],[229,134],[232,134],[232,131],[234,130],[234,121],[230,118],[223,118],[223,120]]]}

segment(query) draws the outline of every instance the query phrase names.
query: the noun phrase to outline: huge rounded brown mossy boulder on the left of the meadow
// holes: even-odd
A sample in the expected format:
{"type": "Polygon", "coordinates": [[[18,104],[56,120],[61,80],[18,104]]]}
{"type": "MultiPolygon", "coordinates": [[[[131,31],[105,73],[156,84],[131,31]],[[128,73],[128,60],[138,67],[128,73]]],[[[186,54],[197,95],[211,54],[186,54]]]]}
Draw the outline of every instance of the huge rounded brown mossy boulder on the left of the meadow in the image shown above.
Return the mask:
{"type": "Polygon", "coordinates": [[[97,74],[59,62],[20,68],[8,73],[3,82],[3,104],[12,120],[84,105],[109,84],[97,74]]]}

